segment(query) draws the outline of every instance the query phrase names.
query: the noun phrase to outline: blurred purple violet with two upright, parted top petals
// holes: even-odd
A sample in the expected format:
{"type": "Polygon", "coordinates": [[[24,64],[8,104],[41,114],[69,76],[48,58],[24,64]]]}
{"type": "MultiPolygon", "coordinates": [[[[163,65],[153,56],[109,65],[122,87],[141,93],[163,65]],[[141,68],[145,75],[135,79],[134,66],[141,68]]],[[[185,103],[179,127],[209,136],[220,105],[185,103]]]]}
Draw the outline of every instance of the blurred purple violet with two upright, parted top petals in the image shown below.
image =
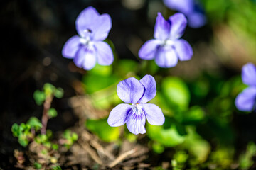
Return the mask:
{"type": "Polygon", "coordinates": [[[167,21],[158,13],[154,28],[154,38],[148,40],[139,50],[144,60],[155,59],[159,67],[174,67],[181,61],[190,60],[193,55],[191,45],[179,39],[186,28],[187,20],[182,13],[176,13],[167,21]]]}

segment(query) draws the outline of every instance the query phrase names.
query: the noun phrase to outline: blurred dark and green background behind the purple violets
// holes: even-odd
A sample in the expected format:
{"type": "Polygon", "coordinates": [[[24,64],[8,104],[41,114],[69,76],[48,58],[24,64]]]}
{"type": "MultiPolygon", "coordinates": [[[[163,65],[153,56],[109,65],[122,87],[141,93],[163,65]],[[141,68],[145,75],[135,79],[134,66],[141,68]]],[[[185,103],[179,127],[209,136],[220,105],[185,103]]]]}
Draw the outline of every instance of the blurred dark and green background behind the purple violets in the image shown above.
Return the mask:
{"type": "MultiPolygon", "coordinates": [[[[178,1],[178,0],[177,0],[178,1]]],[[[86,133],[112,155],[99,154],[102,164],[74,145],[62,156],[63,169],[105,169],[113,157],[141,148],[116,169],[254,169],[256,167],[256,114],[235,108],[235,97],[245,89],[240,72],[256,63],[256,1],[196,1],[206,23],[188,26],[183,35],[193,47],[191,60],[162,69],[154,60],[138,57],[140,47],[153,38],[157,12],[165,18],[177,9],[160,0],[9,0],[0,2],[0,167],[14,169],[14,149],[26,152],[11,133],[11,125],[31,116],[41,119],[33,92],[50,83],[65,92],[52,105],[58,117],[49,120],[55,133],[71,128],[86,133]],[[108,13],[112,29],[106,40],[114,63],[85,71],[65,59],[61,50],[76,35],[75,19],[93,6],[108,13]],[[166,122],[146,124],[145,135],[133,135],[124,126],[110,128],[107,116],[122,103],[116,94],[119,81],[128,77],[156,79],[159,106],[166,122]]],[[[91,139],[91,138],[89,138],[91,139]]],[[[90,140],[89,140],[90,141],[90,140]]],[[[27,156],[28,157],[28,156],[27,156]]],[[[29,162],[26,163],[29,166],[29,162]]]]}

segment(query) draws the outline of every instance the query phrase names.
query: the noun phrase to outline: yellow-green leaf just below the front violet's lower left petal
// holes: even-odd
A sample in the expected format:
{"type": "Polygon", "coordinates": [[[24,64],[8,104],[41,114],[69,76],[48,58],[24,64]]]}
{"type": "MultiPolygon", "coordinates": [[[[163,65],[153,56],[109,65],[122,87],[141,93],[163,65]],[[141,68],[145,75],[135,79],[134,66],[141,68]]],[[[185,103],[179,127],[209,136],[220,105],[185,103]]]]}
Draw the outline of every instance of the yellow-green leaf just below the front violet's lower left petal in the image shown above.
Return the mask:
{"type": "Polygon", "coordinates": [[[87,120],[85,126],[106,142],[115,141],[119,138],[119,128],[110,127],[107,124],[107,119],[87,120]]]}

